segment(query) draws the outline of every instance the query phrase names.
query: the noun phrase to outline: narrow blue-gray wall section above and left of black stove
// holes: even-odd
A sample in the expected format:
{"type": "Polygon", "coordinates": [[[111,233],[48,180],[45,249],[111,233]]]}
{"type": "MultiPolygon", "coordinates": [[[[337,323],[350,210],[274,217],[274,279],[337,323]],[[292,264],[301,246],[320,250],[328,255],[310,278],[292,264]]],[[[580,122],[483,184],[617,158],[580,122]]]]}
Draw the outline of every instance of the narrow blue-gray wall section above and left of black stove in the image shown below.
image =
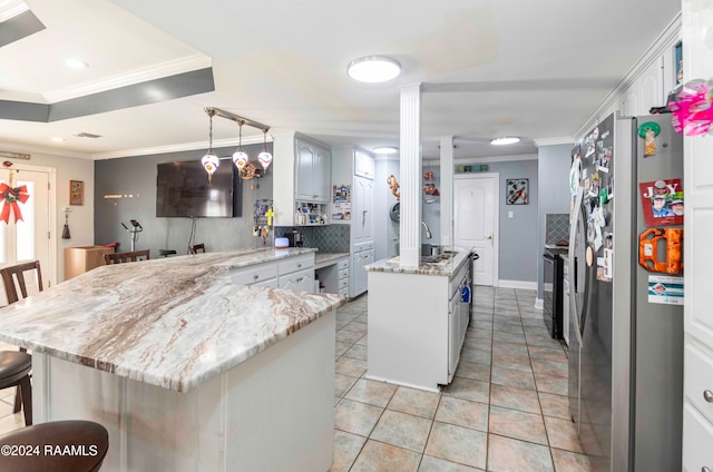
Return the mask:
{"type": "MultiPolygon", "coordinates": [[[[569,167],[573,144],[541,146],[538,150],[537,175],[539,188],[537,194],[539,201],[537,250],[545,249],[545,215],[550,213],[569,213],[569,167]]],[[[530,189],[531,193],[531,189],[530,189]]],[[[543,258],[537,258],[537,297],[543,298],[543,258]]]]}

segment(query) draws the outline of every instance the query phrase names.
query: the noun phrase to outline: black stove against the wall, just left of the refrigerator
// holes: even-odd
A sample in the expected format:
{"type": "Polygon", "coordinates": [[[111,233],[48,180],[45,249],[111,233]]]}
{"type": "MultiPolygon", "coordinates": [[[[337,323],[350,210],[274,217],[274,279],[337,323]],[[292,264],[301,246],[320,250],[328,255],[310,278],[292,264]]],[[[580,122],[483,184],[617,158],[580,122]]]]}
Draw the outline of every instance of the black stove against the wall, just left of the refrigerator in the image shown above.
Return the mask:
{"type": "Polygon", "coordinates": [[[559,255],[567,254],[567,248],[546,245],[543,254],[543,317],[549,335],[555,340],[561,340],[564,333],[564,263],[559,255]]]}

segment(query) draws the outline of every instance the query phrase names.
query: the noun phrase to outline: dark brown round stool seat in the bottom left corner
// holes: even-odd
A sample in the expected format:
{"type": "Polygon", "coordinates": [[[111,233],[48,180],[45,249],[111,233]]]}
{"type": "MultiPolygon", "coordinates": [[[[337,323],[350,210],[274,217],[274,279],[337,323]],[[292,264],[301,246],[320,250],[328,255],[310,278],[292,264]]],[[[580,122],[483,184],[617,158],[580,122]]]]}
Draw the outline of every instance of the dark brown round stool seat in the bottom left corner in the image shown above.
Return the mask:
{"type": "Polygon", "coordinates": [[[108,450],[109,433],[102,425],[51,421],[0,436],[0,471],[96,472],[108,450]]]}

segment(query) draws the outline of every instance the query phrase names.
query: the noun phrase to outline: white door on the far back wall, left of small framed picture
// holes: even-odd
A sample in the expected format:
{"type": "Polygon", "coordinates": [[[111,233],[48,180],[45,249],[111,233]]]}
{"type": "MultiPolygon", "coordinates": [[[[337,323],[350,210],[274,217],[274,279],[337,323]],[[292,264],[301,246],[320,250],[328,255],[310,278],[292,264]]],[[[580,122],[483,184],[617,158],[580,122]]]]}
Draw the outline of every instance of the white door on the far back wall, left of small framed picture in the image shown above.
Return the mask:
{"type": "Polygon", "coordinates": [[[453,179],[455,242],[472,247],[479,256],[473,266],[476,285],[494,285],[498,279],[498,174],[453,179]]]}

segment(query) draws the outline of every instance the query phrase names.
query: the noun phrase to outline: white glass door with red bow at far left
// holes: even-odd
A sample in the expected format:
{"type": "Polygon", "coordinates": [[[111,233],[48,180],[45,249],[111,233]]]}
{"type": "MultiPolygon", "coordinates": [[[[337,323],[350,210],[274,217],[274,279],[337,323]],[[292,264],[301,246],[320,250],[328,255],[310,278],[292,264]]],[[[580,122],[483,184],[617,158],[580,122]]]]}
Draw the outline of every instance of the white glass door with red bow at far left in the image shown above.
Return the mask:
{"type": "MultiPolygon", "coordinates": [[[[16,220],[14,210],[10,212],[8,223],[0,222],[0,265],[13,264],[20,260],[38,259],[42,269],[42,285],[49,286],[49,174],[35,170],[2,170],[0,181],[9,183],[12,173],[12,188],[26,186],[29,198],[25,203],[17,203],[17,209],[22,217],[16,220]]],[[[0,201],[0,208],[7,203],[0,201]]],[[[38,292],[33,277],[26,279],[28,295],[38,292]]],[[[0,299],[7,304],[4,289],[0,299]]]]}

